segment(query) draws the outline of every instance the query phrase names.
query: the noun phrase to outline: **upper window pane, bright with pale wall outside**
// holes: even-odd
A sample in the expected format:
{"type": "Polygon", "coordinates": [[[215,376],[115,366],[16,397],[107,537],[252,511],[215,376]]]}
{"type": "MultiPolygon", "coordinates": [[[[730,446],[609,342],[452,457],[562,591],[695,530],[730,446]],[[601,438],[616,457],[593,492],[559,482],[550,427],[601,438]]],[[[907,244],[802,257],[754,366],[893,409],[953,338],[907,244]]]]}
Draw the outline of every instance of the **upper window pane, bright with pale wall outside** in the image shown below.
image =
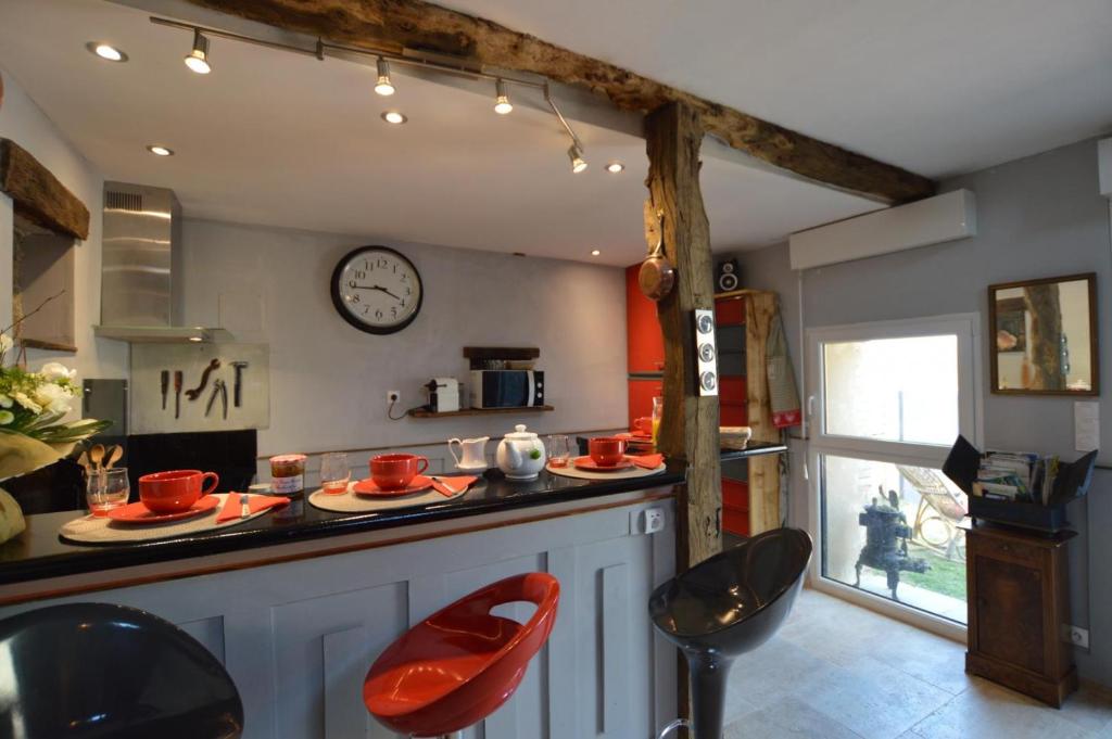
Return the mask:
{"type": "Polygon", "coordinates": [[[957,337],[823,344],[826,433],[950,446],[957,437],[957,337]]]}

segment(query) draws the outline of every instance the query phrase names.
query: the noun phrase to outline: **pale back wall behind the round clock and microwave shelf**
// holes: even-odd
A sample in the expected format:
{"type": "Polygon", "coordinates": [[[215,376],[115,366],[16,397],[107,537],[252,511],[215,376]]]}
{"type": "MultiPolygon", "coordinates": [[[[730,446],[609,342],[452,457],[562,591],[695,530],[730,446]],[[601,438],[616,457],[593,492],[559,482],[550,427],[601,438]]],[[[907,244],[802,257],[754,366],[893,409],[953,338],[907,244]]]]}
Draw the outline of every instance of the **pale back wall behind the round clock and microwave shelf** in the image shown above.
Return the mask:
{"type": "Polygon", "coordinates": [[[620,269],[189,219],[182,241],[187,323],[217,324],[221,294],[226,306],[261,301],[261,331],[236,329],[244,306],[222,317],[237,340],[270,344],[271,422],[259,433],[260,455],[500,436],[516,422],[542,432],[625,426],[620,269]],[[401,251],[424,282],[417,320],[391,336],[350,327],[329,297],[339,259],[371,243],[401,251]],[[387,390],[400,390],[399,408],[410,408],[425,402],[420,385],[431,377],[468,380],[465,346],[539,347],[556,410],[386,420],[387,390]]]}

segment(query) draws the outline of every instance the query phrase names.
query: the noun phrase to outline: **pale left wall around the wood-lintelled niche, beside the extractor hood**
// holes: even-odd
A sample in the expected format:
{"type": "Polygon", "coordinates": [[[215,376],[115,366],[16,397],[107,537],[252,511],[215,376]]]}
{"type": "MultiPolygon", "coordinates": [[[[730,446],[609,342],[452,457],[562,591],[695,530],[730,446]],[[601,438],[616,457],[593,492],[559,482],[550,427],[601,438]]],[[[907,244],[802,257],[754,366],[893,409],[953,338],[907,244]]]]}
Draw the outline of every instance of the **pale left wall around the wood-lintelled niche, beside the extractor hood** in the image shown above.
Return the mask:
{"type": "MultiPolygon", "coordinates": [[[[75,149],[34,104],[18,81],[3,69],[4,94],[0,104],[0,137],[27,149],[70,189],[90,213],[89,238],[78,242],[75,259],[75,331],[77,354],[29,351],[34,369],[46,361],[61,361],[78,370],[80,378],[125,378],[128,346],[98,340],[92,326],[100,321],[100,232],[103,177],[75,149]]],[[[0,194],[0,328],[11,322],[12,203],[0,194]]],[[[34,306],[27,306],[28,310],[34,306]]]]}

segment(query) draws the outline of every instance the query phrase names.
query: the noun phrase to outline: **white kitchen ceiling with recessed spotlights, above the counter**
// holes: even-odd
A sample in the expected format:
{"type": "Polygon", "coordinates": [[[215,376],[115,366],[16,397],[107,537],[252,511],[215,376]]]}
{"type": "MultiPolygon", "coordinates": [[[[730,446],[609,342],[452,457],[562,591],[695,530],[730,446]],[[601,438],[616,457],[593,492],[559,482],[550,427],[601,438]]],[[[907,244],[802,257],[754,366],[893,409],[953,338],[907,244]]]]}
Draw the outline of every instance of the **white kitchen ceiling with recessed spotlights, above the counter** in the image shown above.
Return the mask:
{"type": "MultiPolygon", "coordinates": [[[[187,217],[610,264],[645,252],[639,138],[575,122],[592,166],[574,176],[568,139],[537,91],[512,89],[518,104],[502,117],[487,83],[460,89],[396,69],[398,92],[385,99],[365,66],[221,39],[201,77],[181,63],[190,34],[148,16],[98,0],[4,0],[0,67],[108,179],[170,187],[187,217]],[[90,40],[130,61],[95,58],[90,40]],[[409,122],[387,126],[387,108],[409,122]],[[152,157],[155,142],[177,154],[152,157]],[[610,159],[627,170],[606,173],[610,159]]],[[[877,207],[709,156],[702,179],[719,250],[877,207]]]]}

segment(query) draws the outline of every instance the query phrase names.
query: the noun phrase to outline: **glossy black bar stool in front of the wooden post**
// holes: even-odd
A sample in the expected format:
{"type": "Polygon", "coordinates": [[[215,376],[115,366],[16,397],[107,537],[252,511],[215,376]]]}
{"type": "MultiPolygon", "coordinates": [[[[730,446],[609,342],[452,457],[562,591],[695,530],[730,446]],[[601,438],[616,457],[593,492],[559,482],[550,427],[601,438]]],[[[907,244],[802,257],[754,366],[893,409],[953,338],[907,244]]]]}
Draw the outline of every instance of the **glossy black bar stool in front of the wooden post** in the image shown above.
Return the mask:
{"type": "Polygon", "coordinates": [[[767,641],[803,587],[811,537],[774,529],[699,562],[653,591],[653,625],[684,652],[691,672],[693,739],[722,739],[726,679],[734,659],[767,641]]]}

